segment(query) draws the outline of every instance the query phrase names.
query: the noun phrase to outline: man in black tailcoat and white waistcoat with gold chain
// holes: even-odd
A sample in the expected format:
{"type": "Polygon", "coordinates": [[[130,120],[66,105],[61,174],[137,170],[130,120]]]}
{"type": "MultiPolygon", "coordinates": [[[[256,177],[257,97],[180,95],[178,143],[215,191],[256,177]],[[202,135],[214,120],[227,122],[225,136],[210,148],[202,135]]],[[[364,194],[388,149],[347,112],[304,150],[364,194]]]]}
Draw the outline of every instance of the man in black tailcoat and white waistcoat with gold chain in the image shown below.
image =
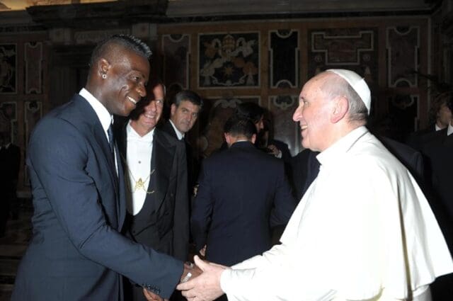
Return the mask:
{"type": "MultiPolygon", "coordinates": [[[[127,235],[135,242],[185,261],[189,201],[185,147],[156,128],[164,107],[164,86],[147,85],[147,99],[132,110],[117,132],[125,166],[127,235]]],[[[142,288],[125,282],[127,300],[145,300],[142,288]]]]}

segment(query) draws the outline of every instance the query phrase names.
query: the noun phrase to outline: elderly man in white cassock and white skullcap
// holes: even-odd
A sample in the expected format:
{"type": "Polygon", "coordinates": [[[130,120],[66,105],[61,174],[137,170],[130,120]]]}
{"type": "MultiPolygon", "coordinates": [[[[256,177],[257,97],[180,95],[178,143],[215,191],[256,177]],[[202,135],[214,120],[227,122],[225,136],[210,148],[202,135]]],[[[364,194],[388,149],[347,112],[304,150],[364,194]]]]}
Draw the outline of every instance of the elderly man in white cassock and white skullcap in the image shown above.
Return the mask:
{"type": "Polygon", "coordinates": [[[231,268],[196,258],[204,273],[178,285],[188,300],[431,300],[452,257],[414,178],[365,127],[370,104],[349,70],[304,85],[293,119],[319,176],[282,244],[231,268]]]}

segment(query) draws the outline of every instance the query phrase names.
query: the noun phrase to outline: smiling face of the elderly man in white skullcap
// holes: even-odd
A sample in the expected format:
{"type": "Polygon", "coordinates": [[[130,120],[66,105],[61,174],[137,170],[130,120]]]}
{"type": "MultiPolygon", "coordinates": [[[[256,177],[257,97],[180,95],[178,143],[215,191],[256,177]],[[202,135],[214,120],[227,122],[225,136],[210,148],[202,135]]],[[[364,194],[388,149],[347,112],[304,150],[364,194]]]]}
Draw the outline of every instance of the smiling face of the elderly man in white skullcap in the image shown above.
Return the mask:
{"type": "Polygon", "coordinates": [[[299,107],[292,116],[300,125],[302,146],[316,152],[329,146],[327,137],[331,106],[321,91],[323,81],[323,76],[316,76],[304,85],[299,95],[299,107]]]}

